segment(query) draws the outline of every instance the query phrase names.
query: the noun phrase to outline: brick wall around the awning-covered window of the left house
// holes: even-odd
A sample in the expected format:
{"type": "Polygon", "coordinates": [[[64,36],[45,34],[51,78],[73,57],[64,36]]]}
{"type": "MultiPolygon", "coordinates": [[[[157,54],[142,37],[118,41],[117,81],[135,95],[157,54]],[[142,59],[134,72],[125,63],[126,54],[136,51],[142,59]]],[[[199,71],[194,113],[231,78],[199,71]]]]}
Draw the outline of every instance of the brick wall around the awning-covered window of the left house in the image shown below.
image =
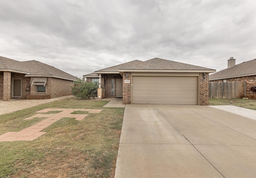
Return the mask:
{"type": "MultiPolygon", "coordinates": [[[[31,77],[31,83],[33,79],[34,77],[31,77]]],[[[51,98],[72,95],[71,87],[73,86],[73,81],[47,77],[45,92],[36,92],[37,85],[32,85],[30,95],[50,95],[51,98]]]]}

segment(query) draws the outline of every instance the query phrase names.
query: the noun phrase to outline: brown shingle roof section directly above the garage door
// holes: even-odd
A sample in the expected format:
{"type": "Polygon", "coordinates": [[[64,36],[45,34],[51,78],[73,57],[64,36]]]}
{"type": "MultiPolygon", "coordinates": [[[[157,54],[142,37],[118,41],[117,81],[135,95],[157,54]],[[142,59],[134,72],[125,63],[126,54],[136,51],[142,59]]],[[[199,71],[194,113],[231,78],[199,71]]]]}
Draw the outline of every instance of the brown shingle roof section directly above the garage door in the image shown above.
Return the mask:
{"type": "Polygon", "coordinates": [[[137,65],[119,68],[119,69],[132,69],[132,70],[214,70],[206,67],[170,61],[166,59],[154,58],[144,61],[137,65]]]}

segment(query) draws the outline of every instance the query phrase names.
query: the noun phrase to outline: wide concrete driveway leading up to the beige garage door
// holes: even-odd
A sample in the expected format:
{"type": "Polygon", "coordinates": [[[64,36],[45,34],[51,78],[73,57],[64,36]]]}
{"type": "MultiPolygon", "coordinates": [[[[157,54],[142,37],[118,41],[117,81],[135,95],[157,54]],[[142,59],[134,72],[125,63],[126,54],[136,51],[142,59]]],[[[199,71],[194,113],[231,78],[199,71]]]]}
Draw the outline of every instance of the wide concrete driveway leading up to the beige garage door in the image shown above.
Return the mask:
{"type": "Polygon", "coordinates": [[[223,177],[256,177],[256,120],[208,106],[126,105],[115,178],[223,177]]]}

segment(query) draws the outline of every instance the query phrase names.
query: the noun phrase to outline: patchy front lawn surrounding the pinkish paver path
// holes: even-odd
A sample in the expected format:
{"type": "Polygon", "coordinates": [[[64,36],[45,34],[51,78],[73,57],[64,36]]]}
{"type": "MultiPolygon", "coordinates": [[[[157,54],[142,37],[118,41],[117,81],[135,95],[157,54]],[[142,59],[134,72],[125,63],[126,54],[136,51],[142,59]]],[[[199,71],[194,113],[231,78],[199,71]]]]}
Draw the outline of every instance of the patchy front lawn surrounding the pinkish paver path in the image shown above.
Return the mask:
{"type": "Polygon", "coordinates": [[[0,178],[113,178],[124,108],[103,107],[106,103],[67,99],[0,115],[2,135],[46,119],[24,120],[42,109],[103,109],[82,121],[62,118],[33,141],[0,142],[0,178]]]}

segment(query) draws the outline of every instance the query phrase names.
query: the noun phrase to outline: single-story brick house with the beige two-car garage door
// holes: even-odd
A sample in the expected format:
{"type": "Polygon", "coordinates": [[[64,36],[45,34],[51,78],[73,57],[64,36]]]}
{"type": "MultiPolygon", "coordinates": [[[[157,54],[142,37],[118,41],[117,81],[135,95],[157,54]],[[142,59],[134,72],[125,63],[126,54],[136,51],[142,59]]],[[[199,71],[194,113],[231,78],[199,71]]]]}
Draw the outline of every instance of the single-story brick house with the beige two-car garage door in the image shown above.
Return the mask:
{"type": "Polygon", "coordinates": [[[123,104],[209,104],[214,69],[165,59],[134,60],[84,75],[99,81],[98,97],[122,97],[123,104]]]}

